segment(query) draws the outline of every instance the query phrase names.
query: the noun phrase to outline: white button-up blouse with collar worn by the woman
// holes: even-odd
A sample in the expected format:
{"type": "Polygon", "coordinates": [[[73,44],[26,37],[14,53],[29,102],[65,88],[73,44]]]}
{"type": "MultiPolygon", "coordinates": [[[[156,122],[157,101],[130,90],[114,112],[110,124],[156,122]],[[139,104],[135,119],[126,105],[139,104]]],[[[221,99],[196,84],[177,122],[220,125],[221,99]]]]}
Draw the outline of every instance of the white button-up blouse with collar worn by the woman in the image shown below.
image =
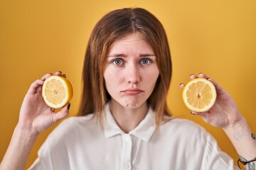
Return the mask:
{"type": "Polygon", "coordinates": [[[64,120],[48,136],[30,169],[237,169],[196,123],[174,118],[156,131],[154,111],[124,133],[106,106],[107,128],[93,115],[64,120]]]}

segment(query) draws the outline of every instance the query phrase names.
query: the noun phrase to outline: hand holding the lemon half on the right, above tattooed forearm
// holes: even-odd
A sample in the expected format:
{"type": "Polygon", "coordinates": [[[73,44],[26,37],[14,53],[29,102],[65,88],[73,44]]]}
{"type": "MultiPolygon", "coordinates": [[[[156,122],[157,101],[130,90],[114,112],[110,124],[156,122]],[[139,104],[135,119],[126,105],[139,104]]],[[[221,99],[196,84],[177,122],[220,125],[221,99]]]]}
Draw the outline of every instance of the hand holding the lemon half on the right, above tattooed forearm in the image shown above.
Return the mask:
{"type": "MultiPolygon", "coordinates": [[[[213,79],[210,79],[206,74],[199,74],[198,77],[208,79],[211,81],[216,89],[217,98],[215,104],[210,110],[206,112],[193,112],[191,114],[199,115],[203,118],[206,123],[220,128],[230,128],[233,125],[240,123],[242,121],[242,115],[238,111],[238,107],[233,101],[233,98],[213,79]]],[[[196,79],[197,76],[191,74],[190,79],[196,79]]],[[[183,89],[185,84],[181,84],[180,87],[183,89]]]]}

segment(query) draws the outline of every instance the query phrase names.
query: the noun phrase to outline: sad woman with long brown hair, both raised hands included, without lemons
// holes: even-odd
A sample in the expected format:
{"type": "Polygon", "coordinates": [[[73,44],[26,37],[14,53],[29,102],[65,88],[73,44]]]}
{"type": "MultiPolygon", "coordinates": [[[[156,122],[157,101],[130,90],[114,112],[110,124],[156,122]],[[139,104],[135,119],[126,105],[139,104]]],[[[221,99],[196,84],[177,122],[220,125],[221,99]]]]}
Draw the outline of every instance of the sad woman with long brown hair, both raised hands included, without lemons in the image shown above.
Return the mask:
{"type": "MultiPolygon", "coordinates": [[[[43,102],[41,88],[50,75],[28,90],[1,169],[23,168],[38,135],[68,115],[70,104],[53,113],[43,102]]],[[[215,105],[206,113],[192,113],[223,128],[240,161],[255,169],[254,135],[233,99],[209,80],[217,89],[215,105]]],[[[31,169],[235,169],[208,132],[169,116],[170,81],[169,45],[157,18],[142,8],[107,13],[86,50],[83,116],[63,121],[49,135],[31,169]]]]}

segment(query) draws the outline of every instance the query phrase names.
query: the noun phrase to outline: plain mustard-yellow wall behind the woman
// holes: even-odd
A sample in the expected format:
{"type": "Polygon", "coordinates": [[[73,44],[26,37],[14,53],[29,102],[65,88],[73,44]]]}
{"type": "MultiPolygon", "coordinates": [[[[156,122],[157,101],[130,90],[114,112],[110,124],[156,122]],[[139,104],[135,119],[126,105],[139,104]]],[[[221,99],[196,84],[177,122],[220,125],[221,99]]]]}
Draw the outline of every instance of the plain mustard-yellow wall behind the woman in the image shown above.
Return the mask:
{"type": "MultiPolygon", "coordinates": [[[[238,158],[222,130],[190,115],[178,84],[186,82],[189,74],[208,74],[235,98],[256,133],[255,0],[1,0],[0,160],[28,86],[43,74],[61,70],[68,75],[75,89],[70,109],[75,115],[85,47],[93,26],[105,13],[132,6],[148,9],[166,28],[174,63],[168,100],[173,114],[203,125],[221,149],[238,158]]],[[[38,138],[28,165],[51,130],[38,138]]]]}

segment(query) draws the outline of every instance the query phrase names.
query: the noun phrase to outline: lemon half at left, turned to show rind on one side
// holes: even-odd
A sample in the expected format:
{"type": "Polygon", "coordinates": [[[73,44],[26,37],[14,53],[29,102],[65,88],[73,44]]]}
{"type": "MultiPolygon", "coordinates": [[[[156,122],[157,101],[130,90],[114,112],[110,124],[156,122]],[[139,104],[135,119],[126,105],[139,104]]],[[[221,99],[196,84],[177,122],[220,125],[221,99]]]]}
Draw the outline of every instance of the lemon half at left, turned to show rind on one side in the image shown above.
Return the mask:
{"type": "Polygon", "coordinates": [[[71,101],[73,87],[68,79],[60,76],[51,76],[43,83],[42,95],[48,106],[61,108],[71,101]]]}

